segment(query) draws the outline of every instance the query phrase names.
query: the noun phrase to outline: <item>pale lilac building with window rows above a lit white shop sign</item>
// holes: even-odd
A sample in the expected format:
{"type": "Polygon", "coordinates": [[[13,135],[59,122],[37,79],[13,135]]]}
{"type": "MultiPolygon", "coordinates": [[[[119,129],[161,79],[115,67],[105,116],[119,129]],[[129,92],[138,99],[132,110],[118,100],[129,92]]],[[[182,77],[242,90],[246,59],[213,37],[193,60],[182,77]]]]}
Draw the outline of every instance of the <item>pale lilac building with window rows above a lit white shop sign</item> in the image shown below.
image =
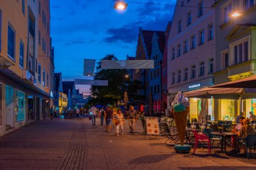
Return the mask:
{"type": "MultiPolygon", "coordinates": [[[[216,60],[214,0],[177,1],[168,37],[168,108],[174,95],[214,84],[216,60]],[[191,7],[193,6],[193,7],[191,7]],[[195,7],[194,7],[195,6],[195,7]]],[[[189,99],[189,118],[198,118],[201,99],[189,99]]],[[[213,118],[213,100],[207,112],[213,118]]]]}

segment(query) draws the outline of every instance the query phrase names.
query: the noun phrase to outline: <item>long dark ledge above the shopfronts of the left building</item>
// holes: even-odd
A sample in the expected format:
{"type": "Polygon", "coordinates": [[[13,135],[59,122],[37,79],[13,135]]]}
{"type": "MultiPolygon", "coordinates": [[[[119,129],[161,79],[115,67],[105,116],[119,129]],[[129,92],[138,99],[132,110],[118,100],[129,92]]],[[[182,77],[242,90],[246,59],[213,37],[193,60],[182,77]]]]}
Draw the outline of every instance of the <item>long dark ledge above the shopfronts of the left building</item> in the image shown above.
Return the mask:
{"type": "Polygon", "coordinates": [[[34,85],[28,79],[24,79],[24,78],[20,77],[19,75],[17,75],[16,73],[14,73],[13,71],[11,71],[9,69],[0,69],[0,73],[9,77],[13,81],[18,82],[20,85],[27,87],[30,90],[36,91],[46,97],[50,97],[49,93],[46,93],[42,89],[39,89],[38,87],[36,87],[36,85],[34,85]]]}

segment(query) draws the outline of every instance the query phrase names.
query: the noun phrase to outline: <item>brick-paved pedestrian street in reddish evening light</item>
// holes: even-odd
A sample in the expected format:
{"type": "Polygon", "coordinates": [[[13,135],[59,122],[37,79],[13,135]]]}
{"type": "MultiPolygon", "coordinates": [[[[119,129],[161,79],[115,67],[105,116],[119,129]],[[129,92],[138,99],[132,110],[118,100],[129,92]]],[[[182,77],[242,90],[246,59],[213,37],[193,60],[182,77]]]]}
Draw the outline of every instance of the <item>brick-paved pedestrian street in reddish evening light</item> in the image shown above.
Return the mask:
{"type": "MultiPolygon", "coordinates": [[[[0,169],[256,169],[256,159],[177,154],[165,138],[137,133],[108,134],[105,126],[92,126],[88,118],[34,122],[0,137],[0,169]]],[[[214,153],[214,151],[212,152],[214,153]]]]}

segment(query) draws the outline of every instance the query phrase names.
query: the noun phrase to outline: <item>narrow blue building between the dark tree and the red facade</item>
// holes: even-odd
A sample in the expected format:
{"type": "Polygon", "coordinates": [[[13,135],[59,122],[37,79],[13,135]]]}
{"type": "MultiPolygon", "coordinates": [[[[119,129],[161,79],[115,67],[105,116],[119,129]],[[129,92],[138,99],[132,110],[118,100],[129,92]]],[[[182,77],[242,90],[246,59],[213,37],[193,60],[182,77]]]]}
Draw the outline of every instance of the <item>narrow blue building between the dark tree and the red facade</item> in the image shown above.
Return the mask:
{"type": "Polygon", "coordinates": [[[154,69],[149,69],[149,87],[152,95],[154,112],[162,111],[162,56],[164,54],[164,32],[154,32],[152,36],[152,52],[150,60],[154,60],[154,69]]]}

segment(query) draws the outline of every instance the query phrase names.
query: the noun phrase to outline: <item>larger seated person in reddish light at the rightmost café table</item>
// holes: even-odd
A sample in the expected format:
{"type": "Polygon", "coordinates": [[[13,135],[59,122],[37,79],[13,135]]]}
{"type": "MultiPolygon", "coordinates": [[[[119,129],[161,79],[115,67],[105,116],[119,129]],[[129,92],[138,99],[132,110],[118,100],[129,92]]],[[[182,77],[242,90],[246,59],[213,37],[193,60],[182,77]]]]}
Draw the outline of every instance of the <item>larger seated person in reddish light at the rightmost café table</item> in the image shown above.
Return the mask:
{"type": "MultiPolygon", "coordinates": [[[[250,120],[249,119],[245,119],[243,120],[243,126],[240,130],[240,132],[238,133],[238,142],[243,144],[245,143],[245,138],[248,134],[254,134],[254,130],[253,127],[249,125],[250,120]]],[[[244,153],[246,154],[246,147],[245,145],[243,145],[243,149],[244,149],[244,153]]]]}

